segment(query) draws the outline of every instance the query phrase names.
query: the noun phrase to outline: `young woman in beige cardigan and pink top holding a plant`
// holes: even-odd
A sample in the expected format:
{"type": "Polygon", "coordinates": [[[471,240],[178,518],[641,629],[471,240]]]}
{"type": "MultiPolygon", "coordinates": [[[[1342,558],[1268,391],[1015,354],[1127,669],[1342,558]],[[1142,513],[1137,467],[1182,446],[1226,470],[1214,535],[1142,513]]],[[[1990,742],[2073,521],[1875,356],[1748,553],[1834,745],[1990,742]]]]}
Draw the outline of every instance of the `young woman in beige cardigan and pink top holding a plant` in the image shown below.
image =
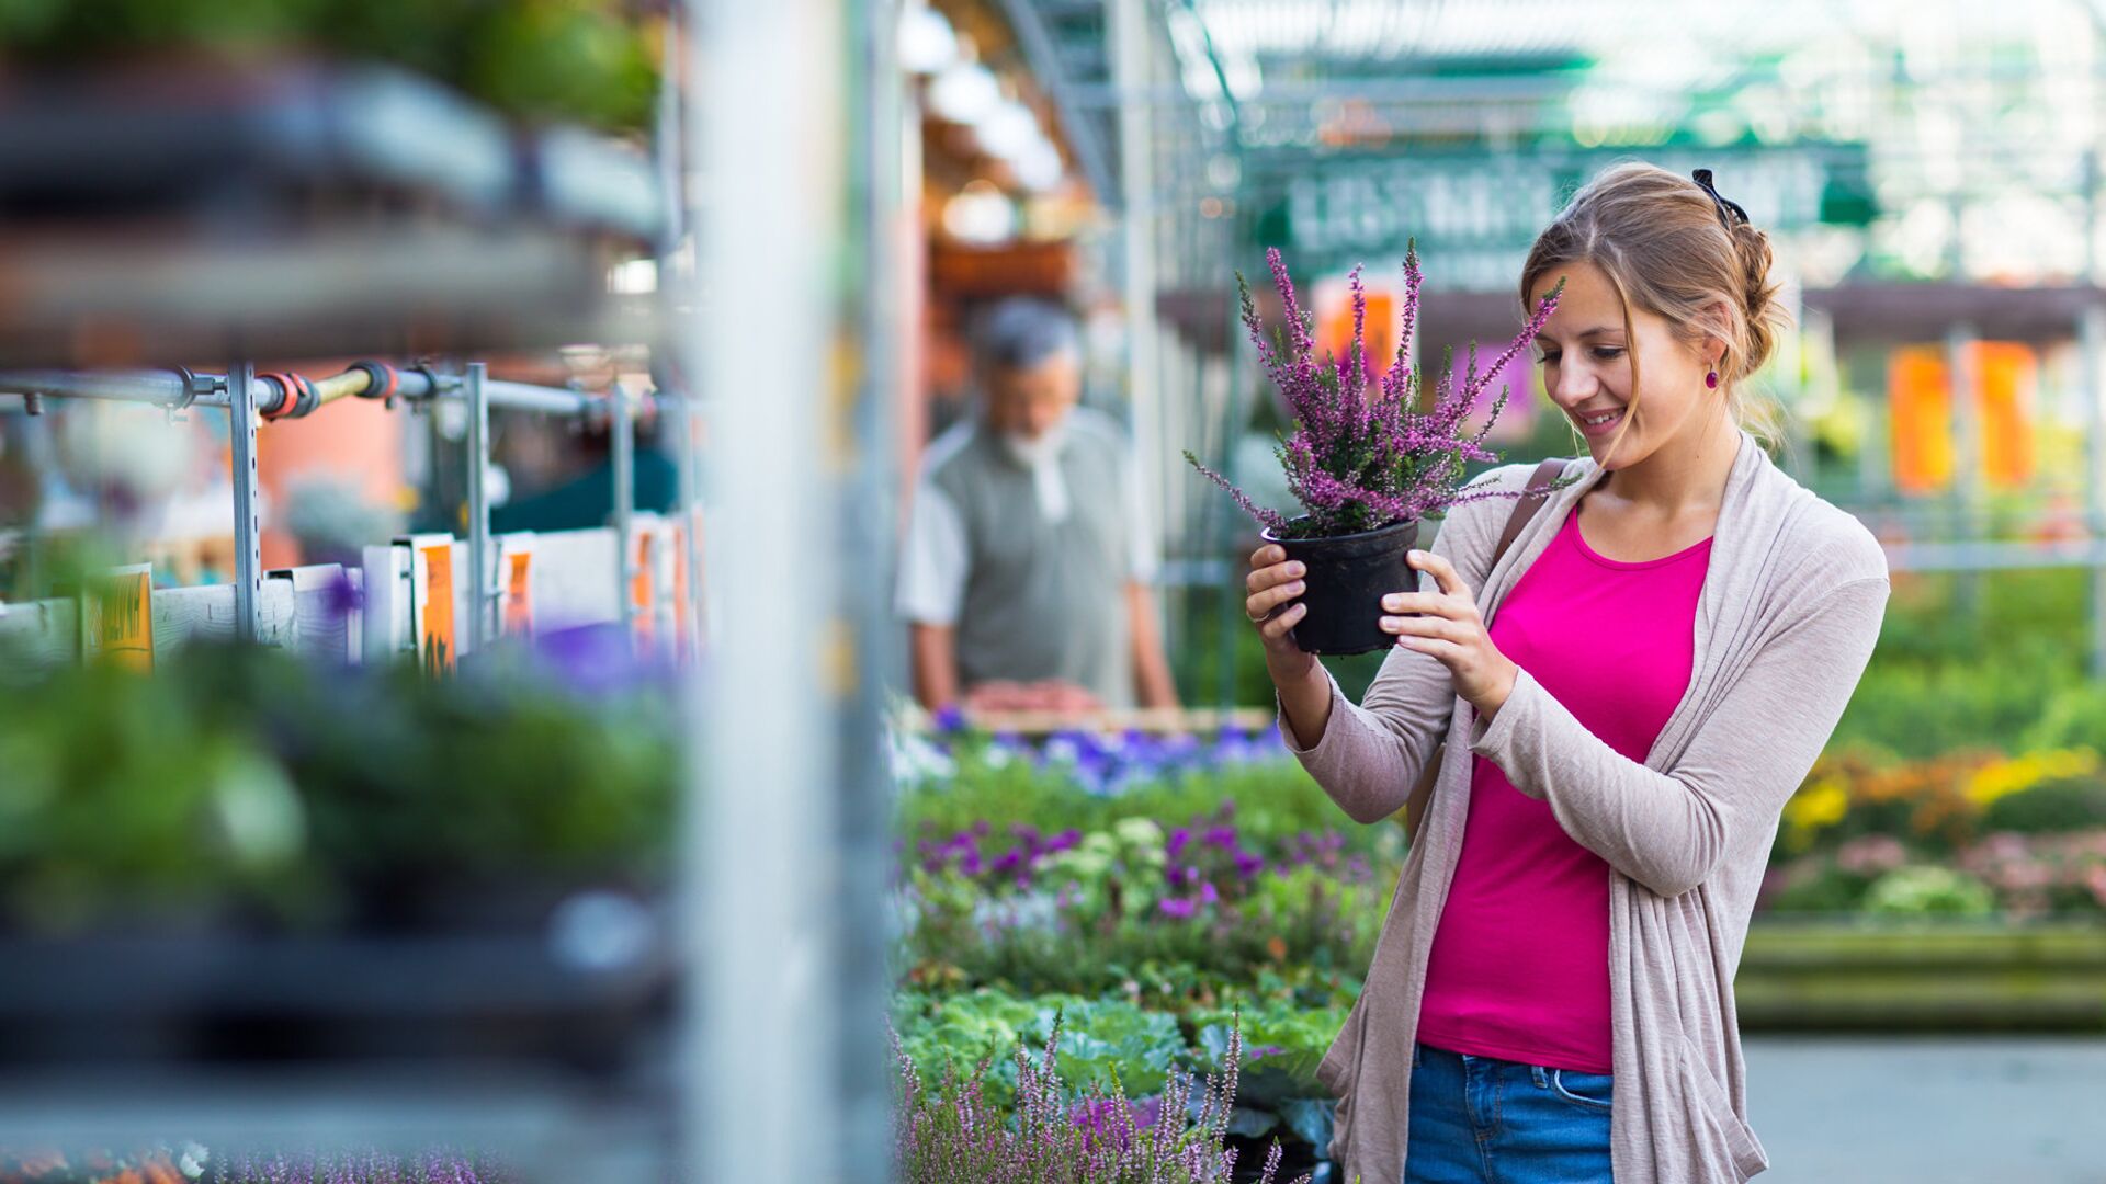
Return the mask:
{"type": "MultiPolygon", "coordinates": [[[[1872,653],[1887,563],[1777,470],[1742,383],[1782,314],[1769,240],[1697,181],[1622,164],[1521,278],[1544,388],[1586,451],[1491,563],[1512,501],[1447,516],[1384,596],[1363,704],[1287,630],[1302,569],[1251,556],[1289,748],[1363,824],[1436,746],[1358,1005],[1318,1077],[1346,1180],[1740,1182],[1733,969],[1777,815],[1872,653]]],[[[1533,466],[1478,480],[1521,489],[1533,466]]]]}

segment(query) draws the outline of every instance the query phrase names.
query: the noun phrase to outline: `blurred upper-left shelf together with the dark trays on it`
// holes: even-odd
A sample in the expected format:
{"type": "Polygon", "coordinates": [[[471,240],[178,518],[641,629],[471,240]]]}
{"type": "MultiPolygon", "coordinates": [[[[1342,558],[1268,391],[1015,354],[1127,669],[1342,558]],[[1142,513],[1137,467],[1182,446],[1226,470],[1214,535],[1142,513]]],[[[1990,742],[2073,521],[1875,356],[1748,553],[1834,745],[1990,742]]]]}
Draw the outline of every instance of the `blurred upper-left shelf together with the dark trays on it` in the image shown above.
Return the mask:
{"type": "Polygon", "coordinates": [[[286,63],[0,88],[0,364],[649,339],[647,154],[417,76],[286,63]]]}

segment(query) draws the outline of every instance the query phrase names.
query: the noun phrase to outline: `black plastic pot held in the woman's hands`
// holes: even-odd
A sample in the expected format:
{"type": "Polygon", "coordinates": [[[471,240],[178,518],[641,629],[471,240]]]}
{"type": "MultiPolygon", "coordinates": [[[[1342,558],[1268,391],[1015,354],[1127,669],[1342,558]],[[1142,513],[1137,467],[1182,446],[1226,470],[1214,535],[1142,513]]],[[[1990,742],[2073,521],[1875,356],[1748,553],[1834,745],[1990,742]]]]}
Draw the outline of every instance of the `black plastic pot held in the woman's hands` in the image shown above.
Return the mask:
{"type": "Polygon", "coordinates": [[[1283,539],[1270,527],[1261,535],[1308,567],[1302,577],[1308,613],[1291,630],[1295,645],[1308,653],[1371,653],[1396,645],[1396,636],[1382,632],[1382,598],[1419,588],[1419,573],[1405,563],[1419,544],[1417,520],[1331,539],[1283,539]]]}

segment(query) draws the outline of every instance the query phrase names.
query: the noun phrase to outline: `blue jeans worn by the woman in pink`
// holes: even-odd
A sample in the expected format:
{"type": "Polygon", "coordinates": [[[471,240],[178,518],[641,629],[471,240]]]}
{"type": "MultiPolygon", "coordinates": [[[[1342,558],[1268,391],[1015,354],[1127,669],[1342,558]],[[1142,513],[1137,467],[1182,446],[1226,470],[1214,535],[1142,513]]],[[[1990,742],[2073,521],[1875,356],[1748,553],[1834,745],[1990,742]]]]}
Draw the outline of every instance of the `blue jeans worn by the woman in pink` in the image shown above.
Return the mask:
{"type": "Polygon", "coordinates": [[[1607,1184],[1611,1081],[1413,1045],[1405,1184],[1607,1184]]]}

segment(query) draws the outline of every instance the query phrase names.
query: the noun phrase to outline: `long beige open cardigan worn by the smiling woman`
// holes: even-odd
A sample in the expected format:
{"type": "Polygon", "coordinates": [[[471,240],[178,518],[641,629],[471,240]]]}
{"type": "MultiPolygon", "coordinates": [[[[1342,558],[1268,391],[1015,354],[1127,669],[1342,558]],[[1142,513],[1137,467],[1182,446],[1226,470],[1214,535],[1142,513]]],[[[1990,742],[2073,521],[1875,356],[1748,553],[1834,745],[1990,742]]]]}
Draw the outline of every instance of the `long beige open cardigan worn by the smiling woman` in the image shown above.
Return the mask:
{"type": "MultiPolygon", "coordinates": [[[[1533,466],[1478,480],[1521,489],[1533,466]]],[[[1601,478],[1550,495],[1485,571],[1510,499],[1455,508],[1430,550],[1476,588],[1487,624],[1601,478]]],[[[1367,988],[1316,1077],[1339,1098],[1331,1157],[1346,1180],[1398,1184],[1411,1045],[1441,906],[1470,807],[1472,754],[1548,798],[1558,826],[1609,862],[1615,1058],[1611,1155],[1620,1184],[1740,1182],[1769,1157],[1748,1129],[1733,969],[1784,803],[1834,731],[1879,638],[1887,560],[1862,522],[1771,463],[1742,432],[1697,598],[1695,659],[1643,765],[1590,733],[1525,670],[1487,727],[1434,657],[1394,649],[1354,706],[1331,683],[1314,748],[1289,748],[1356,822],[1396,813],[1445,735],[1422,841],[1411,847],[1367,988]]],[[[1556,984],[1544,984],[1556,990],[1556,984]]]]}

